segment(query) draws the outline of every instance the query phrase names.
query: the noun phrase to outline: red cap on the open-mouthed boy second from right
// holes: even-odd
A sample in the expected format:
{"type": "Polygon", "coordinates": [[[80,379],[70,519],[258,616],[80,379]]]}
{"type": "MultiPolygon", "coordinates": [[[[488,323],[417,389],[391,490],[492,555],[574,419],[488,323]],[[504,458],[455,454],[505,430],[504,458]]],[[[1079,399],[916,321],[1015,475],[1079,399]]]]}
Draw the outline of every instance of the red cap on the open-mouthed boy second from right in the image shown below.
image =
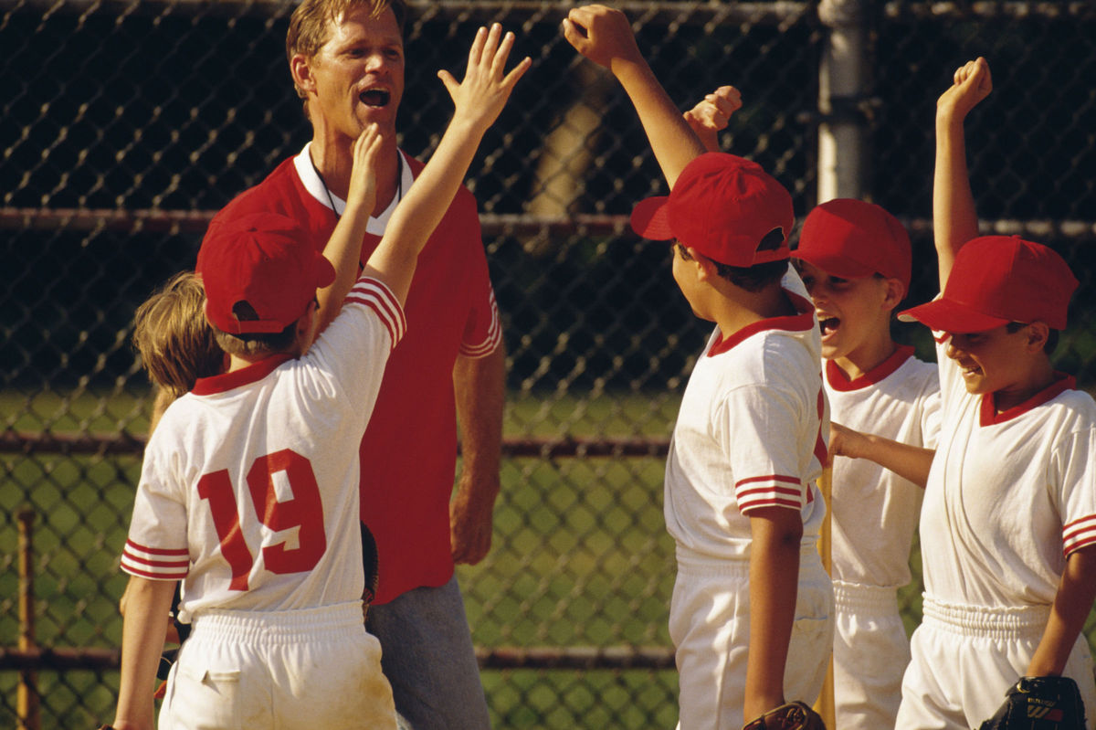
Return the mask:
{"type": "Polygon", "coordinates": [[[882,274],[910,288],[910,236],[898,218],[872,203],[837,198],[815,206],[792,255],[831,276],[882,274]]]}

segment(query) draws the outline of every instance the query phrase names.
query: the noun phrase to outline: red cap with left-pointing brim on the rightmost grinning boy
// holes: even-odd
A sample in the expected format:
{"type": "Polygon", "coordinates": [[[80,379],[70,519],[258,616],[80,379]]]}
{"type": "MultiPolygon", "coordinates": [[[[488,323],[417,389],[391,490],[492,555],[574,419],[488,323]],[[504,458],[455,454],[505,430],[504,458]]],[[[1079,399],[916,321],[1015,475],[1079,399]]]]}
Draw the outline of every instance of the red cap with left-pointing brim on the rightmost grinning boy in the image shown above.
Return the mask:
{"type": "Polygon", "coordinates": [[[1009,322],[1065,329],[1077,280],[1058,253],[1018,236],[983,236],[956,254],[943,296],[899,315],[938,332],[985,332],[1009,322]]]}

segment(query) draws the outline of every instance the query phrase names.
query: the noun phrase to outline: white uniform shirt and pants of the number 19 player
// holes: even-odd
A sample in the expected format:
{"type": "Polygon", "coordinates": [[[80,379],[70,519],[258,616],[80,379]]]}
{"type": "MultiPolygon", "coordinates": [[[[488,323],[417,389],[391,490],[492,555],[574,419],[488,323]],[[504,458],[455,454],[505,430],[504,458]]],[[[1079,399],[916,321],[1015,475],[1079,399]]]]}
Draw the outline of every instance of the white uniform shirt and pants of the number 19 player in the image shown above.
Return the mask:
{"type": "Polygon", "coordinates": [[[406,320],[361,278],[300,358],[203,378],[145,453],[126,572],[193,621],[161,729],[395,728],[362,623],[357,445],[406,320]]]}

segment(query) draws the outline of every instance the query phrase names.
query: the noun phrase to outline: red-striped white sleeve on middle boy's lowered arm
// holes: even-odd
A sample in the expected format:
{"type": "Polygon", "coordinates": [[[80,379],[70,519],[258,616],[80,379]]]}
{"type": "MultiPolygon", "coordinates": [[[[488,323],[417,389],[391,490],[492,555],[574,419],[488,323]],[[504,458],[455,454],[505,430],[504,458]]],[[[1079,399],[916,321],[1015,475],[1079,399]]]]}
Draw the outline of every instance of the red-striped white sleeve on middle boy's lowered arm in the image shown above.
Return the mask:
{"type": "MultiPolygon", "coordinates": [[[[720,441],[734,470],[739,512],[760,507],[802,510],[804,484],[800,444],[807,404],[799,395],[777,387],[742,387],[722,403],[720,441]]],[[[814,436],[811,436],[812,441],[814,436]]]]}

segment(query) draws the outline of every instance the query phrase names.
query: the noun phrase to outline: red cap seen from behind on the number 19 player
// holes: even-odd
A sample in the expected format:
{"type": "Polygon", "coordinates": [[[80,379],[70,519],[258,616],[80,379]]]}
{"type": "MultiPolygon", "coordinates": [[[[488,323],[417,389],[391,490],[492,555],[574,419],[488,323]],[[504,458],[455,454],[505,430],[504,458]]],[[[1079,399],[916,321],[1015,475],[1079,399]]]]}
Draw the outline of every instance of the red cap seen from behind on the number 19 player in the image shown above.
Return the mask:
{"type": "Polygon", "coordinates": [[[335,270],[293,218],[253,213],[209,229],[198,250],[197,271],[206,290],[206,317],[229,334],[281,332],[308,309],[316,289],[335,280],[335,270]],[[259,315],[233,313],[247,303],[259,315]]]}

